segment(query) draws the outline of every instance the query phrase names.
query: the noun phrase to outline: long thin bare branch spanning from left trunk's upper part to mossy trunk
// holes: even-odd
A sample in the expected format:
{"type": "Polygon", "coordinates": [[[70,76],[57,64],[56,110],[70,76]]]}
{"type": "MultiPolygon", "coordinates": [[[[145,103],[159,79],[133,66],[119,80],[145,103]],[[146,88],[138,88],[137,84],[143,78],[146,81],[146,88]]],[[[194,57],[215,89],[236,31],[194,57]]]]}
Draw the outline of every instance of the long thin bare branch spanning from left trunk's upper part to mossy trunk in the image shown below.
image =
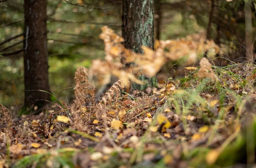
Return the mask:
{"type": "Polygon", "coordinates": [[[91,24],[91,25],[108,25],[108,26],[114,26],[114,27],[120,27],[121,24],[117,24],[117,23],[99,23],[99,22],[90,22],[88,20],[82,20],[82,21],[75,21],[75,20],[57,20],[57,19],[53,19],[53,18],[49,18],[48,19],[50,22],[58,22],[58,23],[83,23],[83,24],[91,24]]]}

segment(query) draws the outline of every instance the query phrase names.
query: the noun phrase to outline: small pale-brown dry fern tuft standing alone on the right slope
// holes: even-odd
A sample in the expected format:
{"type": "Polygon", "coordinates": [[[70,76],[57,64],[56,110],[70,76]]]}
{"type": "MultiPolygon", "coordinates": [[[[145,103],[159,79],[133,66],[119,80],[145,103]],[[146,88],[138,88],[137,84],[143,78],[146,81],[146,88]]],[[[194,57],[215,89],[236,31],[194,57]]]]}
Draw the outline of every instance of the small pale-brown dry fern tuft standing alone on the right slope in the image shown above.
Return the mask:
{"type": "Polygon", "coordinates": [[[200,61],[198,78],[210,78],[212,81],[218,81],[217,76],[213,73],[212,65],[206,58],[202,58],[200,61]]]}

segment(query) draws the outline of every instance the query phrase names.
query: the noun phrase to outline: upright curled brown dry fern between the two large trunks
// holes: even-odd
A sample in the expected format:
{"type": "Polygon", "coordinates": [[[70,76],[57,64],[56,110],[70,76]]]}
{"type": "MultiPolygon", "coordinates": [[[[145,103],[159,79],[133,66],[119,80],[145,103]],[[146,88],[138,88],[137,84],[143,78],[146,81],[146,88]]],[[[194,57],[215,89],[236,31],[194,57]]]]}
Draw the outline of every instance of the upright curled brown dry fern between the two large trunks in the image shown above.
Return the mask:
{"type": "Polygon", "coordinates": [[[70,107],[71,116],[73,117],[73,126],[79,131],[85,131],[87,122],[89,122],[90,113],[84,114],[84,104],[94,106],[95,104],[95,87],[90,84],[88,79],[88,70],[85,67],[78,67],[75,73],[75,95],[76,100],[70,107]]]}

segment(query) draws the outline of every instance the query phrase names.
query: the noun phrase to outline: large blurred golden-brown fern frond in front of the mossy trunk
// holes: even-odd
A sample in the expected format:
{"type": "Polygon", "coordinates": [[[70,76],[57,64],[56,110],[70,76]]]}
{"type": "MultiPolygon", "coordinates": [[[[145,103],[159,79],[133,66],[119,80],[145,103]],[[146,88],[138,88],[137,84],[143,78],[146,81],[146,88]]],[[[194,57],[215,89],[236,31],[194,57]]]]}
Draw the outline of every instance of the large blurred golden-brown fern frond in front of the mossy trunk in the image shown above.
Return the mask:
{"type": "Polygon", "coordinates": [[[115,34],[108,26],[102,28],[100,38],[105,43],[105,62],[93,61],[90,76],[101,74],[99,82],[103,85],[110,81],[111,75],[122,79],[126,87],[129,85],[128,81],[142,84],[143,82],[137,79],[138,76],[145,74],[147,77],[153,77],[168,60],[175,61],[183,56],[188,56],[186,62],[190,64],[197,60],[198,53],[206,51],[218,53],[219,51],[213,41],[205,40],[202,37],[199,39],[197,37],[193,41],[191,36],[187,39],[156,41],[155,50],[142,46],[144,54],[137,54],[126,49],[122,45],[124,39],[115,34]],[[125,65],[130,63],[134,64],[127,68],[125,65]]]}

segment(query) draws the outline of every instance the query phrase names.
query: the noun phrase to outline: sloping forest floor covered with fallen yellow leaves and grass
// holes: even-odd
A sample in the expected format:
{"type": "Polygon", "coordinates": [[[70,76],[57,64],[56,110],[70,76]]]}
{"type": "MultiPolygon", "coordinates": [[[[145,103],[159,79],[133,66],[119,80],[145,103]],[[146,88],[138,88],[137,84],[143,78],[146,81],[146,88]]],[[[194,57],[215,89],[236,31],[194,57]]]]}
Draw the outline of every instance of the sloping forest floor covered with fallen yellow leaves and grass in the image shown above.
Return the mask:
{"type": "Polygon", "coordinates": [[[80,109],[79,117],[87,116],[84,123],[74,123],[78,121],[70,115],[72,106],[58,102],[40,115],[14,119],[0,132],[0,168],[254,163],[255,66],[212,68],[217,83],[198,79],[199,67],[186,67],[183,78],[159,80],[157,87],[145,92],[126,94],[117,89],[108,109],[97,105],[80,109]],[[97,116],[93,108],[105,112],[97,116]]]}

